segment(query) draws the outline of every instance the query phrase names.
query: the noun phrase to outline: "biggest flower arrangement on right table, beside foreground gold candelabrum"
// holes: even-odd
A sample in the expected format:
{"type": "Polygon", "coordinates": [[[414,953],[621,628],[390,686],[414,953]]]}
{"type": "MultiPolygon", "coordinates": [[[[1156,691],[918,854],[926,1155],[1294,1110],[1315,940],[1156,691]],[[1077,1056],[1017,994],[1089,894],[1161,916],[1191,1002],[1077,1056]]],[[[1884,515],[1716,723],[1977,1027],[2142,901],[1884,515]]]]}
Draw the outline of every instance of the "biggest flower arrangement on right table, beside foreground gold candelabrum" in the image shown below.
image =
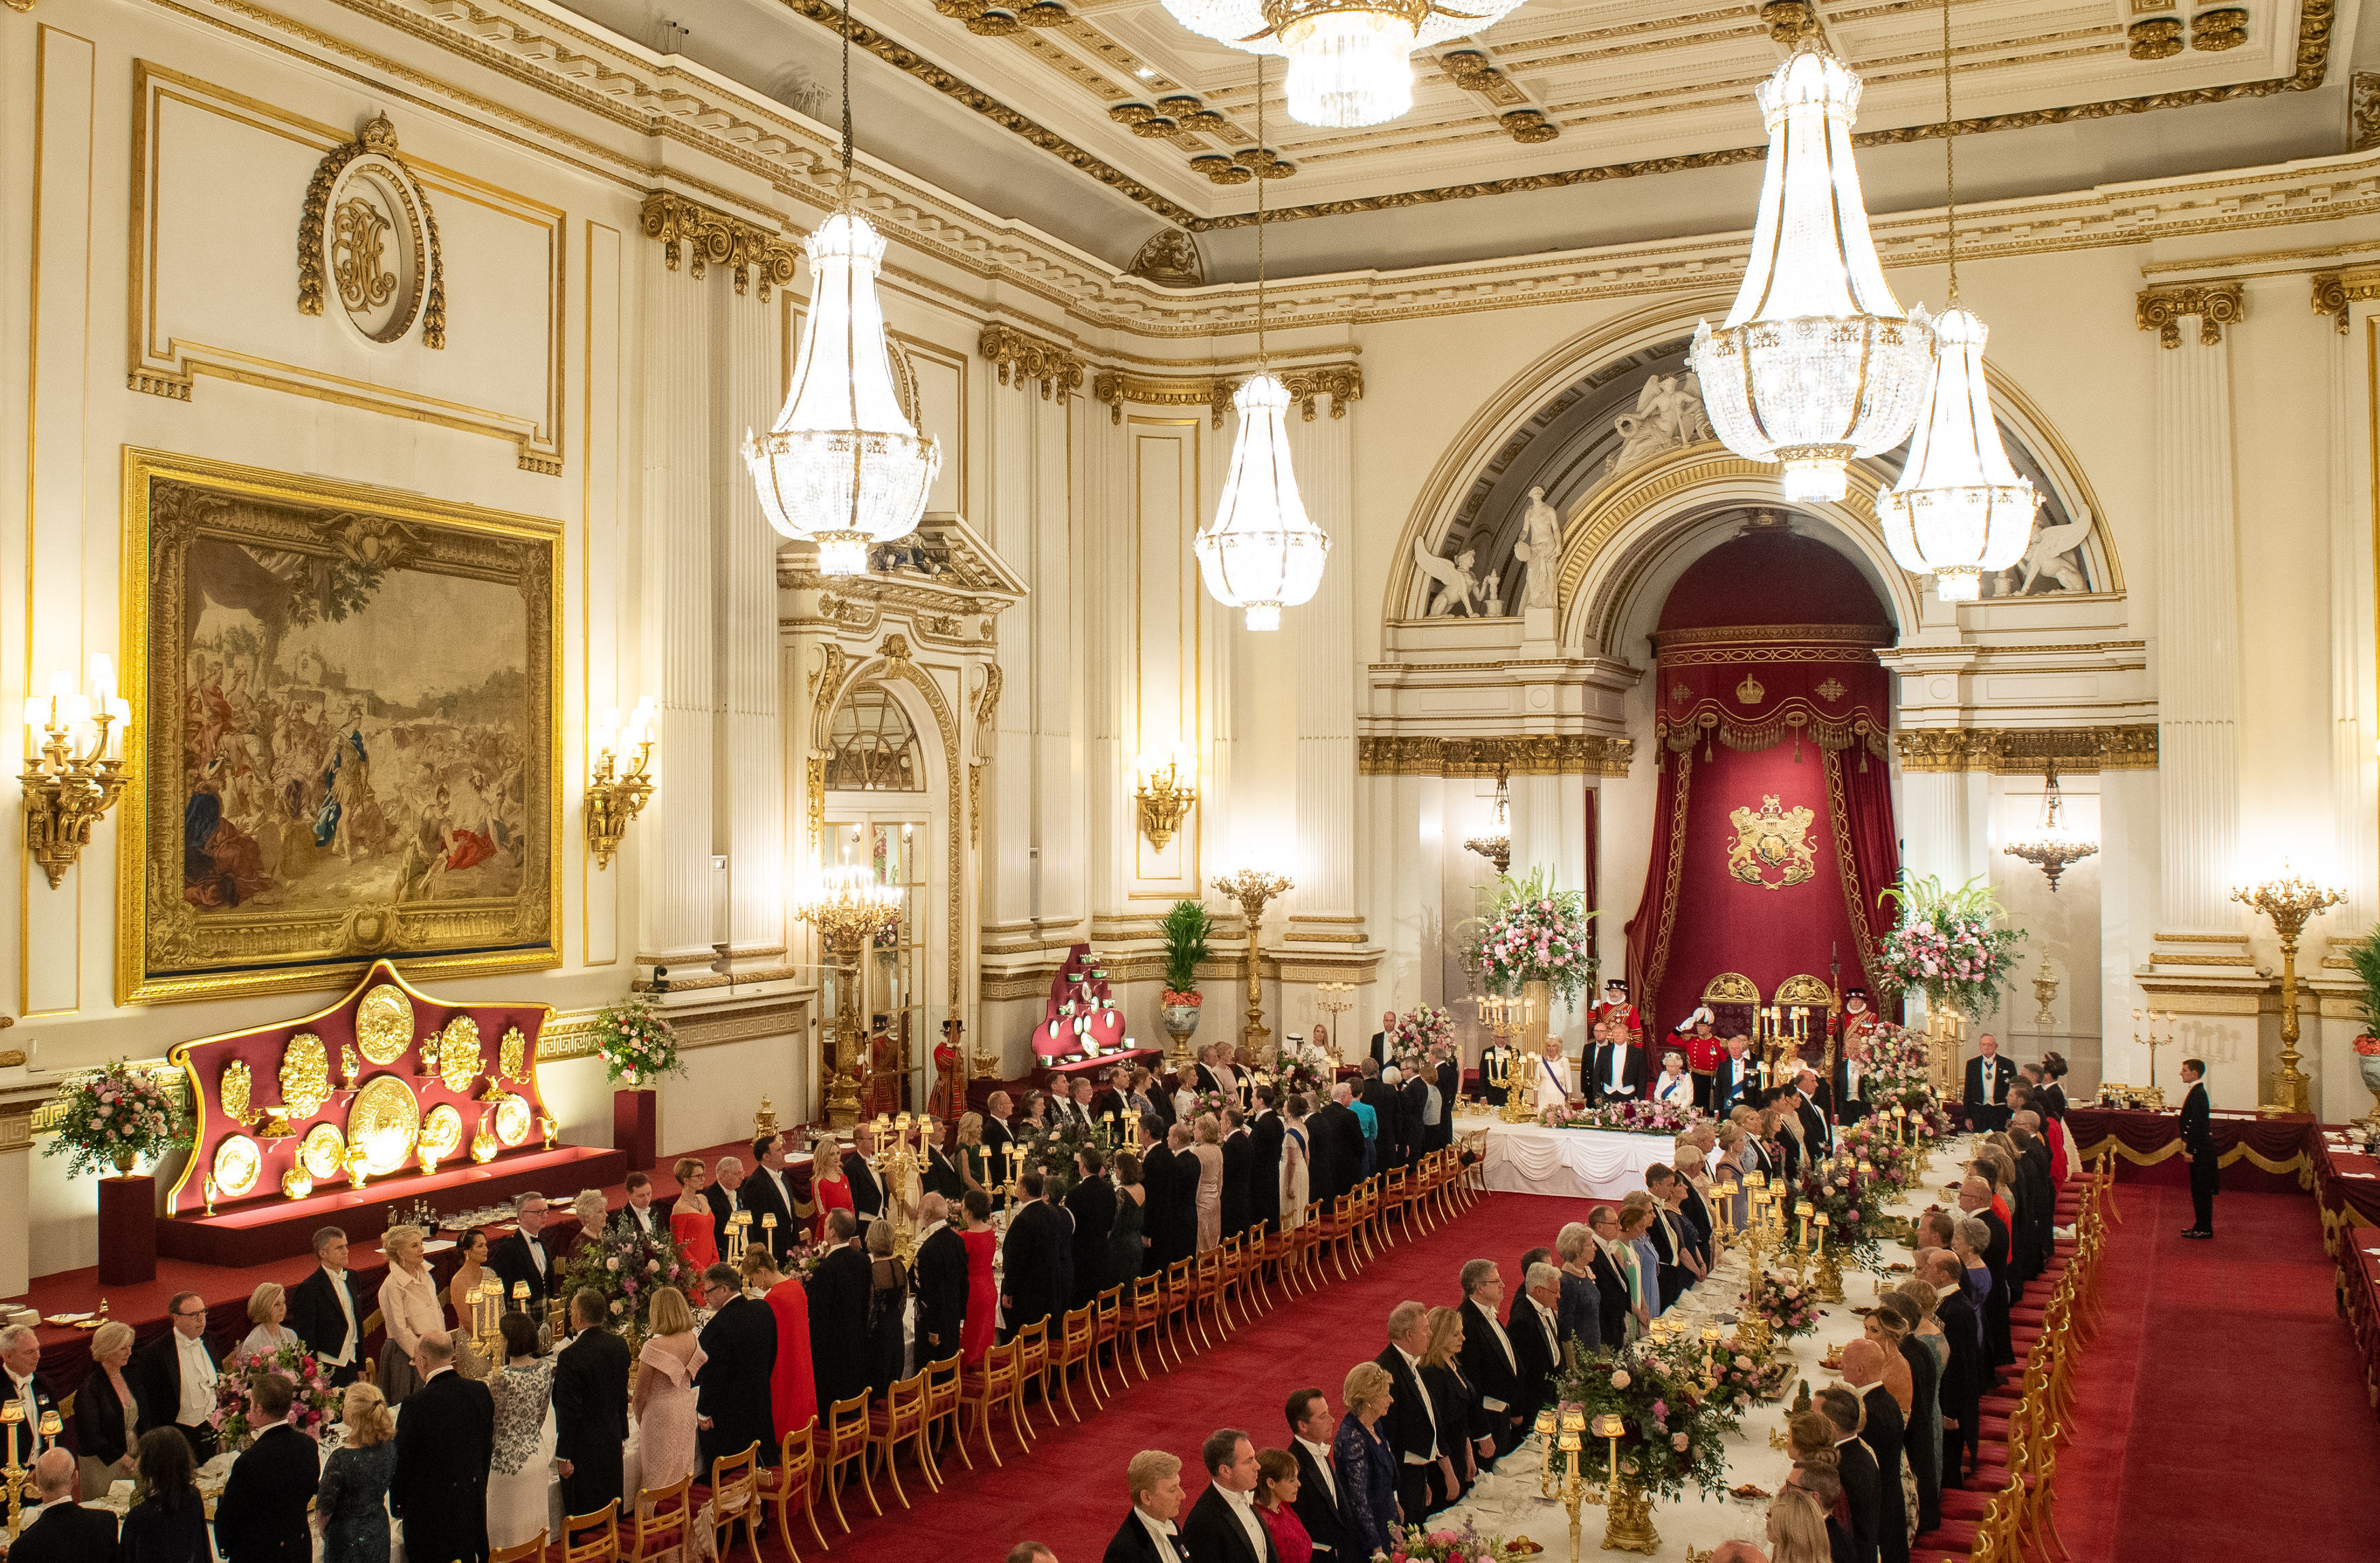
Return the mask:
{"type": "Polygon", "coordinates": [[[1561,1408],[1580,1408],[1587,1425],[1618,1416],[1621,1473],[1649,1499],[1683,1499],[1687,1487],[1718,1496],[1728,1484],[1726,1437],[1742,1420],[1735,1399],[1702,1382],[1702,1342],[1640,1339],[1580,1356],[1554,1380],[1561,1408]]]}

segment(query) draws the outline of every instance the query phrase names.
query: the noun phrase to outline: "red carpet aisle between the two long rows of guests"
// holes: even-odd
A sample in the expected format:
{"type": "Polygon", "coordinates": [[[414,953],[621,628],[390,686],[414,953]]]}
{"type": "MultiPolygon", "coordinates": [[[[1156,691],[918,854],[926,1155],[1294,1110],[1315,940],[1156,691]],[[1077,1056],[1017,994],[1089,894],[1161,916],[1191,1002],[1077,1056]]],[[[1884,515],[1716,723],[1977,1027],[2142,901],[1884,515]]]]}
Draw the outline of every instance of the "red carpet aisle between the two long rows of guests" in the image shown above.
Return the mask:
{"type": "MultiPolygon", "coordinates": [[[[1590,1201],[1542,1199],[1530,1194],[1483,1194],[1452,1223],[1426,1237],[1399,1242],[1361,1275],[1330,1282],[1295,1301],[1276,1304],[1271,1313],[1242,1325],[1228,1344],[1195,1354],[1183,1368],[1159,1370],[1147,1385],[1111,1394],[1104,1411],[1092,1411],[1081,1385],[1076,1404],[1083,1423],[1066,1420],[1050,1432],[1050,1416],[1033,1406],[1040,1432],[1033,1454],[1016,1458],[1016,1442],[1000,1432],[1004,1470],[992,1470],[981,1442],[971,1446],[976,1470],[969,1473],[954,1451],[945,1449],[942,1492],[926,1494],[914,1480],[914,1463],[902,1458],[902,1484],[914,1511],[902,1511],[878,1480],[885,1518],[869,1515],[857,1484],[843,1494],[843,1513],[852,1534],[843,1537],[833,1513],[821,1520],[833,1563],[997,1563],[1026,1537],[1045,1542],[1064,1563],[1090,1563],[1104,1549],[1130,1499],[1123,1494],[1123,1465],[1140,1449],[1166,1449],[1183,1458],[1183,1484],[1190,1501],[1207,1487],[1197,1470],[1200,1442],[1216,1427],[1240,1427],[1257,1446],[1280,1446],[1290,1430],[1283,1404],[1290,1389],[1319,1387],[1340,1408],[1340,1380],[1359,1361],[1388,1344],[1388,1311],[1407,1297],[1428,1304],[1461,1299],[1457,1275],[1468,1258],[1495,1258],[1504,1280],[1518,1287],[1521,1251],[1552,1244],[1566,1220],[1583,1220],[1590,1201]],[[857,1504],[857,1508],[854,1508],[857,1504]]],[[[1109,1375],[1114,1387],[1114,1375],[1109,1375]]],[[[1064,1416],[1064,1406],[1059,1408],[1064,1416]]],[[[802,1520],[795,1520],[804,1558],[816,1544],[802,1520]]],[[[769,1546],[771,1558],[783,1549],[769,1546]]],[[[740,1553],[750,1556],[750,1553],[740,1553]]]]}

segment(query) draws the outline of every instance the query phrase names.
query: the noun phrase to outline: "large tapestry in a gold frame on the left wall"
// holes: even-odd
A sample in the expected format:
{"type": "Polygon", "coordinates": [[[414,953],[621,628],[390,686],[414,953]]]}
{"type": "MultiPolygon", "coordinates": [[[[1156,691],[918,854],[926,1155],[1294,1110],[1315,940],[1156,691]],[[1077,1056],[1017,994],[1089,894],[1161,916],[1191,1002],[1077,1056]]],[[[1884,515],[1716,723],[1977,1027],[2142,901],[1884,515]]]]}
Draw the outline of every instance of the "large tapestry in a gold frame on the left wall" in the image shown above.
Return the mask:
{"type": "Polygon", "coordinates": [[[552,523],[138,450],[124,471],[119,999],[557,963],[552,523]]]}

